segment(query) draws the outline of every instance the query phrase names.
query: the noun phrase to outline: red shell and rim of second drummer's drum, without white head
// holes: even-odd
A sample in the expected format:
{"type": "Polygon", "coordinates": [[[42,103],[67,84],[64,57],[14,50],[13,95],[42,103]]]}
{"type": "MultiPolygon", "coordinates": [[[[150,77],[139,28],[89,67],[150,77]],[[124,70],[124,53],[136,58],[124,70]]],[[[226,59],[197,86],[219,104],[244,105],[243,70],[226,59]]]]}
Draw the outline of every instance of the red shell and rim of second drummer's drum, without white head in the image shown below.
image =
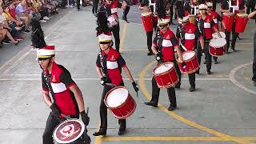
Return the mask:
{"type": "MultiPolygon", "coordinates": [[[[130,117],[131,114],[134,114],[134,111],[136,109],[136,102],[134,101],[134,98],[129,94],[126,98],[126,101],[123,102],[120,106],[117,107],[110,107],[106,104],[106,98],[109,96],[109,94],[118,88],[126,89],[125,86],[116,86],[113,89],[111,89],[109,92],[106,93],[106,96],[104,98],[104,102],[106,107],[111,111],[112,114],[114,114],[115,118],[118,119],[125,119],[130,117]]],[[[127,89],[126,89],[127,90],[127,89]]]]}

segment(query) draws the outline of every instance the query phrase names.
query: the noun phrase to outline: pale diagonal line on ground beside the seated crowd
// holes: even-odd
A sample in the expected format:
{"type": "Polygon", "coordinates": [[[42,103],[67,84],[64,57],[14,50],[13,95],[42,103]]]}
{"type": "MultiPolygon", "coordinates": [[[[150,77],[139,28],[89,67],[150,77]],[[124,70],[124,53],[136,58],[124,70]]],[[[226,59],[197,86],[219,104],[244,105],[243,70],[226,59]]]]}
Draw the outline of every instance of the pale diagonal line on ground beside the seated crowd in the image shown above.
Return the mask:
{"type": "MultiPolygon", "coordinates": [[[[56,27],[58,25],[59,22],[63,21],[65,18],[68,18],[67,16],[69,16],[71,14],[71,12],[73,12],[74,10],[69,11],[67,14],[65,14],[62,18],[58,19],[57,22],[54,23],[54,25],[50,26],[50,28],[48,28],[46,31],[50,31],[49,34],[46,35],[45,39],[47,39],[50,34],[52,34],[54,32],[54,27],[56,27]]],[[[8,73],[10,71],[11,68],[13,68],[19,61],[21,61],[23,58],[26,57],[26,55],[30,54],[31,51],[33,51],[33,48],[27,50],[29,47],[31,47],[30,45],[27,45],[25,48],[23,48],[22,51],[20,51],[18,54],[16,54],[13,58],[11,58],[9,61],[7,61],[5,64],[3,64],[0,67],[0,71],[3,70],[2,74],[0,74],[0,78],[2,78],[2,76],[6,73],[8,73]]]]}

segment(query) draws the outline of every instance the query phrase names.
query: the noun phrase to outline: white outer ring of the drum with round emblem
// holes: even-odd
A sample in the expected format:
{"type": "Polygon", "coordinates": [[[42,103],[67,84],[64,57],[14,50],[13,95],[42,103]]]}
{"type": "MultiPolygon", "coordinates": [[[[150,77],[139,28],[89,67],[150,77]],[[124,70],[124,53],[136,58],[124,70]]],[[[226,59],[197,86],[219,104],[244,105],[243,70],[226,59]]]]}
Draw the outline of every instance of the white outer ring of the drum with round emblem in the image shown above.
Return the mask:
{"type": "Polygon", "coordinates": [[[80,137],[82,136],[83,131],[84,131],[85,129],[86,129],[86,126],[85,126],[85,124],[84,124],[80,119],[78,119],[78,118],[70,118],[70,119],[66,119],[65,121],[63,121],[63,122],[59,123],[57,127],[55,127],[55,129],[54,129],[54,134],[53,134],[53,138],[54,138],[54,140],[55,140],[56,142],[58,142],[58,143],[62,143],[62,144],[66,144],[66,143],[74,142],[74,141],[78,140],[78,138],[80,138],[80,137]],[[66,142],[64,142],[64,141],[60,141],[59,139],[57,139],[57,136],[56,136],[56,130],[58,130],[59,126],[61,126],[61,125],[62,125],[62,123],[64,123],[64,122],[68,122],[68,121],[76,121],[76,122],[80,123],[80,124],[81,124],[81,126],[82,126],[82,130],[81,130],[81,131],[82,131],[82,133],[78,134],[78,136],[76,137],[76,139],[74,138],[74,139],[72,139],[72,140],[70,140],[70,141],[66,141],[66,142]]]}

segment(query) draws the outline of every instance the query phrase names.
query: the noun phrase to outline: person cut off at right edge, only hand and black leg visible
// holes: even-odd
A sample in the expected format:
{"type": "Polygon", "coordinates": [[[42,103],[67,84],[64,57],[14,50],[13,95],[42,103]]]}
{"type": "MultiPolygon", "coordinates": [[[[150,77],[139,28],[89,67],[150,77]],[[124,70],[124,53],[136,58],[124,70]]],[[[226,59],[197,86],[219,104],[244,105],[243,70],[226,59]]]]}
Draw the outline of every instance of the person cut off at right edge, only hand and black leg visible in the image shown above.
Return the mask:
{"type": "MultiPolygon", "coordinates": [[[[248,15],[249,18],[256,20],[256,10],[248,15]]],[[[253,62],[253,78],[252,81],[256,86],[256,32],[254,32],[254,62],[253,62]]]]}

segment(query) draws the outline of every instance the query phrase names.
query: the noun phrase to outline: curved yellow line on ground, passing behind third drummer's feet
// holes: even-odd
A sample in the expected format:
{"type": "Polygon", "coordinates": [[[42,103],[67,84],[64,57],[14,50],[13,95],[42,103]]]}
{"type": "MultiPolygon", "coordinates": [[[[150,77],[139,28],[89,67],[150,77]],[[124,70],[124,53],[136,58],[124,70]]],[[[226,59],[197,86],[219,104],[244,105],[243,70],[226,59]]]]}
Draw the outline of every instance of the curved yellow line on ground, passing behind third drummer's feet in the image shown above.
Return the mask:
{"type": "MultiPolygon", "coordinates": [[[[141,72],[141,74],[139,75],[139,78],[138,78],[138,85],[140,86],[140,89],[142,90],[142,93],[149,100],[150,100],[151,96],[150,96],[150,93],[146,90],[145,82],[144,82],[143,79],[145,78],[146,71],[148,69],[150,69],[150,67],[153,66],[154,64],[155,64],[155,62],[151,62],[150,64],[148,64],[142,70],[142,72],[141,72]]],[[[166,114],[169,114],[170,116],[172,116],[173,118],[177,119],[180,122],[184,122],[184,123],[186,123],[189,126],[193,126],[193,127],[197,128],[199,130],[205,131],[205,132],[210,133],[210,134],[214,134],[214,135],[216,135],[218,137],[221,137],[221,138],[223,138],[225,140],[234,141],[234,142],[238,142],[238,143],[250,143],[248,141],[241,140],[239,138],[234,138],[234,137],[232,137],[230,135],[227,135],[227,134],[222,134],[222,133],[218,132],[217,130],[212,130],[212,129],[206,128],[205,126],[198,125],[195,122],[191,122],[190,120],[179,116],[178,114],[174,113],[173,111],[168,111],[165,106],[162,106],[159,103],[158,103],[158,109],[162,110],[166,114]]]]}

